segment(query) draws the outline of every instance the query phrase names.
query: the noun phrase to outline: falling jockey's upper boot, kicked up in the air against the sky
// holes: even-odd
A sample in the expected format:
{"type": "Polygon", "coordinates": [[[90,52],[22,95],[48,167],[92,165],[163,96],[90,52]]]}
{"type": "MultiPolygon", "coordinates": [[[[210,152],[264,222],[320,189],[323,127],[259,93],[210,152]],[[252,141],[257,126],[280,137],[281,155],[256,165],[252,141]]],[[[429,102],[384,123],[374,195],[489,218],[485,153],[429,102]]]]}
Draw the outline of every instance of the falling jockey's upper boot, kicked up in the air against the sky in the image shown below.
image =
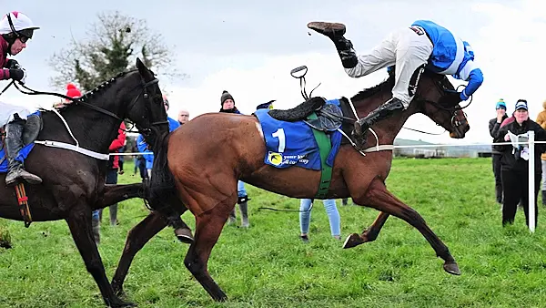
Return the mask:
{"type": "Polygon", "coordinates": [[[338,49],[338,55],[343,67],[353,68],[357,66],[359,60],[353,49],[352,43],[343,36],[346,31],[345,25],[339,23],[311,22],[308,23],[308,28],[319,32],[321,35],[328,36],[329,39],[334,42],[336,49],[338,49]]]}

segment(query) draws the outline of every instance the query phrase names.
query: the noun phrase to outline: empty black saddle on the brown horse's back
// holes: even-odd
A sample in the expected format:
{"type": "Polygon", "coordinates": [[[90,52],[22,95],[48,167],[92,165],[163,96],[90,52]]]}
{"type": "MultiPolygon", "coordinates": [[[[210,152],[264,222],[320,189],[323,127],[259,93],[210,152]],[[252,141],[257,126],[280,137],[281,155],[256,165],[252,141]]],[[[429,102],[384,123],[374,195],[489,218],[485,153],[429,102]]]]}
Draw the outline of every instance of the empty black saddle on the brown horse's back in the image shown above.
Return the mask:
{"type": "Polygon", "coordinates": [[[335,131],[343,123],[343,112],[334,104],[328,104],[324,98],[309,98],[295,108],[268,111],[271,118],[295,122],[302,120],[311,128],[325,132],[335,131]],[[315,114],[315,115],[313,115],[315,114]]]}

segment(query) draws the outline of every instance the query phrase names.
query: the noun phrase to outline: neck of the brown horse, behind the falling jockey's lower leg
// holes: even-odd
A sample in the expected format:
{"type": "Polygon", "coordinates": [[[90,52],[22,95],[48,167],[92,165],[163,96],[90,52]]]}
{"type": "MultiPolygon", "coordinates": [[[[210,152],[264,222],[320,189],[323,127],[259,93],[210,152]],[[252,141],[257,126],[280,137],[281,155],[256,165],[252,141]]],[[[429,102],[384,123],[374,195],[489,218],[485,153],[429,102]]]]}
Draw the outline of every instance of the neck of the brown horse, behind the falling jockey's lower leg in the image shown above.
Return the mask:
{"type": "MultiPolygon", "coordinates": [[[[392,98],[390,92],[379,92],[376,95],[373,95],[369,98],[365,98],[359,101],[353,102],[359,118],[364,118],[368,116],[369,112],[373,111],[375,108],[378,108],[380,105],[384,104],[392,98]]],[[[392,145],[394,144],[394,139],[398,135],[400,129],[406,123],[406,120],[415,113],[414,107],[410,105],[410,108],[404,110],[402,113],[396,113],[390,118],[383,119],[378,123],[372,126],[372,129],[378,135],[378,144],[379,145],[392,145]]],[[[375,145],[375,138],[373,140],[368,138],[370,144],[375,145]]]]}

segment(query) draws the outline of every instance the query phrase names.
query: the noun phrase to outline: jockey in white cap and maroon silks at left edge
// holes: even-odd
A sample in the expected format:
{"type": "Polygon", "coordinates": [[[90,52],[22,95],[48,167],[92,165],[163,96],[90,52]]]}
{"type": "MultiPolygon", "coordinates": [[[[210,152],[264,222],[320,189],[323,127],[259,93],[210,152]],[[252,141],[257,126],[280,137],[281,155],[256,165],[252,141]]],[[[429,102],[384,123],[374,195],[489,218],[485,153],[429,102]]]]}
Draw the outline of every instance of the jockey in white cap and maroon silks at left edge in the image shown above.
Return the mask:
{"type": "MultiPolygon", "coordinates": [[[[21,12],[10,12],[0,20],[0,80],[13,79],[25,83],[25,69],[14,59],[7,59],[7,54],[15,56],[25,49],[35,29],[39,27],[21,12]]],[[[0,127],[5,126],[5,152],[9,162],[6,185],[21,179],[31,184],[42,182],[38,176],[26,171],[23,160],[17,158],[23,148],[23,131],[29,114],[31,112],[26,108],[0,102],[0,127]]]]}

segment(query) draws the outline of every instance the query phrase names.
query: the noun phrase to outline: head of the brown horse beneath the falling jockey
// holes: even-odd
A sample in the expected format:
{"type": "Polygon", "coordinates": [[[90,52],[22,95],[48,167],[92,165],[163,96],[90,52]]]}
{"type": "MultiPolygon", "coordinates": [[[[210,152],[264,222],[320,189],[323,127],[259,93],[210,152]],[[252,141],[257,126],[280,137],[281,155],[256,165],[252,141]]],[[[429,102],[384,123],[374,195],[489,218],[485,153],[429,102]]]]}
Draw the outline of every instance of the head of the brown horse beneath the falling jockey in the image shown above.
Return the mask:
{"type": "Polygon", "coordinates": [[[458,97],[448,77],[425,71],[413,102],[419,104],[421,113],[448,130],[451,138],[462,139],[470,125],[458,97]]]}

